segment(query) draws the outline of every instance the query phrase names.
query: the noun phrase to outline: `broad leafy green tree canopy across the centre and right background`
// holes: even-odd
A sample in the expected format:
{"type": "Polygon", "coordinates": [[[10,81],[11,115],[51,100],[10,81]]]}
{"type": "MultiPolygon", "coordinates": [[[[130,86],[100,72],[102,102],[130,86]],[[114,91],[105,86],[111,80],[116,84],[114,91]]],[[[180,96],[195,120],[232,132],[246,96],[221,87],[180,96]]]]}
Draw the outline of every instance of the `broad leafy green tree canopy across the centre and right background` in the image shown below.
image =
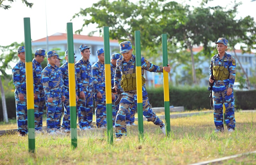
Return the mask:
{"type": "MultiPolygon", "coordinates": [[[[244,43],[247,50],[255,49],[256,25],[253,18],[235,19],[240,3],[234,3],[227,9],[221,6],[205,7],[208,1],[203,0],[195,7],[166,0],[141,0],[137,3],[100,0],[92,7],[81,8],[73,18],[84,17],[84,24],[77,33],[82,32],[84,26],[96,24],[97,29],[89,35],[97,30],[102,35],[103,27],[108,26],[111,39],[130,40],[133,45],[134,31],[139,30],[141,50],[148,52],[146,57],[158,56],[161,34],[166,33],[168,45],[175,46],[176,53],[190,50],[190,62],[187,64],[192,66],[192,79],[196,84],[200,72],[194,66],[198,58],[194,57],[193,47],[203,46],[204,55],[210,58],[212,43],[219,37],[226,37],[231,47],[244,43]]],[[[173,55],[172,58],[178,58],[180,54],[173,55]]]]}

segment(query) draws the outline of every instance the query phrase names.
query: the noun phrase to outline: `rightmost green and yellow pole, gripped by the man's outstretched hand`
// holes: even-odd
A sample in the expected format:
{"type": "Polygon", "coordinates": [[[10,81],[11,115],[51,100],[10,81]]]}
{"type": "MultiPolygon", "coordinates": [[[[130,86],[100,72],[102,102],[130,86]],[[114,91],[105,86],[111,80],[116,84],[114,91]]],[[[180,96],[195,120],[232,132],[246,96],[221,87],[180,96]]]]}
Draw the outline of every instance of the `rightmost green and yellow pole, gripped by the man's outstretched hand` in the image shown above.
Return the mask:
{"type": "MultiPolygon", "coordinates": [[[[162,34],[162,49],[163,49],[163,66],[167,66],[167,34],[162,34]]],[[[164,74],[164,113],[165,113],[165,125],[166,136],[170,136],[170,99],[169,99],[169,74],[163,70],[164,74]]]]}

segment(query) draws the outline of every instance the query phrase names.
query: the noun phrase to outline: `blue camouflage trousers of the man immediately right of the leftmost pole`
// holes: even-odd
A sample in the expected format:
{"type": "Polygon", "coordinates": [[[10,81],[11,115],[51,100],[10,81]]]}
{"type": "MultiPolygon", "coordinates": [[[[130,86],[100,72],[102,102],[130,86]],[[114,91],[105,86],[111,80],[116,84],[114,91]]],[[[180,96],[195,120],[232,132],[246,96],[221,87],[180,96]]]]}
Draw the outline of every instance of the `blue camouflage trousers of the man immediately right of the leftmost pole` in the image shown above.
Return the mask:
{"type": "Polygon", "coordinates": [[[44,89],[36,90],[37,99],[34,99],[35,104],[35,129],[42,130],[43,126],[43,113],[44,113],[44,89]]]}

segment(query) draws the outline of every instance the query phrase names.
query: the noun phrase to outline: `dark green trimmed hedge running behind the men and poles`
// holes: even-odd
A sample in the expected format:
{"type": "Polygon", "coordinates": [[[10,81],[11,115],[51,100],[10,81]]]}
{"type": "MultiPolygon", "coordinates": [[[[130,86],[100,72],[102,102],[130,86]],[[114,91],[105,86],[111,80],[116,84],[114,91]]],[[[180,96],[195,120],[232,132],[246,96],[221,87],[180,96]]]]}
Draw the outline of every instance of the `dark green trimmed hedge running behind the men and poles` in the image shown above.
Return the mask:
{"type": "MultiPolygon", "coordinates": [[[[164,89],[148,88],[148,99],[152,107],[164,107],[164,89]]],[[[184,106],[185,110],[211,109],[210,92],[206,87],[170,87],[170,105],[184,106]]],[[[256,90],[235,91],[236,109],[255,110],[256,90]]],[[[0,96],[1,98],[1,96],[0,96]]],[[[5,93],[8,118],[16,118],[14,93],[5,93]]],[[[0,120],[3,120],[2,99],[0,99],[0,120]]]]}

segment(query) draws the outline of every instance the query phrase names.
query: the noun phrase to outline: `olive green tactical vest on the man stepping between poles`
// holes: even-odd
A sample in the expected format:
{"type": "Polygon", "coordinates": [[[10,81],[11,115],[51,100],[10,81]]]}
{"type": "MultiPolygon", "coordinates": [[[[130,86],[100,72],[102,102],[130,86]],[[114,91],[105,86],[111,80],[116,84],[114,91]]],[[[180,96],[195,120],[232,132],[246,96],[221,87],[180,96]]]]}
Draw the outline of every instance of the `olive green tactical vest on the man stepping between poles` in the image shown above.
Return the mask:
{"type": "MultiPolygon", "coordinates": [[[[135,63],[134,62],[134,66],[133,66],[133,73],[131,74],[124,74],[122,75],[122,79],[120,81],[120,85],[123,88],[124,91],[128,91],[128,90],[136,90],[137,89],[137,85],[136,85],[136,73],[135,73],[135,63]]],[[[123,66],[123,62],[121,63],[122,66],[122,72],[124,73],[124,66],[123,66]]],[[[146,82],[146,79],[141,76],[142,79],[142,85],[146,82]]]]}

